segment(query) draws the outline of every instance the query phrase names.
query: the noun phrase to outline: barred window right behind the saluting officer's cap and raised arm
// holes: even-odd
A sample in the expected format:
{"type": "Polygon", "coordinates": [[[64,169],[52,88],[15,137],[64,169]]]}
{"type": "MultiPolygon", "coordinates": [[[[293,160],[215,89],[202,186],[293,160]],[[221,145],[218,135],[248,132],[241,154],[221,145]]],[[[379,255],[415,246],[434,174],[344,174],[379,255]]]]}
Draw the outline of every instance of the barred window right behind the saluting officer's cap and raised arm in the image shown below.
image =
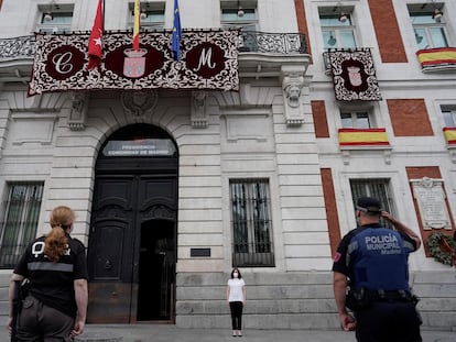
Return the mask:
{"type": "MultiPolygon", "coordinates": [[[[351,199],[354,208],[359,197],[368,196],[377,198],[381,203],[381,209],[394,216],[394,208],[392,206],[392,198],[390,194],[390,179],[350,179],[351,199]]],[[[391,223],[380,219],[383,227],[392,228],[391,223]]]]}

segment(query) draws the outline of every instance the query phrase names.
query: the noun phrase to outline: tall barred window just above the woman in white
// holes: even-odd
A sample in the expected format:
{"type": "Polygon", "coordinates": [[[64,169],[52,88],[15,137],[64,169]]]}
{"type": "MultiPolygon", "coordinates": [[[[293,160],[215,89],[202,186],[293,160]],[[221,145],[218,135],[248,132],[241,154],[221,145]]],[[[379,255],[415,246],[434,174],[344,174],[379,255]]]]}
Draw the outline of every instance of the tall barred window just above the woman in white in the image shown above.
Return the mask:
{"type": "Polygon", "coordinates": [[[232,266],[274,266],[268,179],[230,180],[232,266]]]}

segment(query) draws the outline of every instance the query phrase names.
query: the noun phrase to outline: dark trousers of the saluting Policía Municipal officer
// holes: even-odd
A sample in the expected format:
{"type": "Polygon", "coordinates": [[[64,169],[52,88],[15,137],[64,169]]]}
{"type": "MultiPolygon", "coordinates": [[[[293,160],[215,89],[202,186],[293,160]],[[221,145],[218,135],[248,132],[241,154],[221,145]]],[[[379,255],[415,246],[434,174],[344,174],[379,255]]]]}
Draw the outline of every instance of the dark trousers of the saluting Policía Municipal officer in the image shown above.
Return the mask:
{"type": "Polygon", "coordinates": [[[376,301],[355,312],[358,342],[422,342],[421,318],[412,302],[376,301]]]}

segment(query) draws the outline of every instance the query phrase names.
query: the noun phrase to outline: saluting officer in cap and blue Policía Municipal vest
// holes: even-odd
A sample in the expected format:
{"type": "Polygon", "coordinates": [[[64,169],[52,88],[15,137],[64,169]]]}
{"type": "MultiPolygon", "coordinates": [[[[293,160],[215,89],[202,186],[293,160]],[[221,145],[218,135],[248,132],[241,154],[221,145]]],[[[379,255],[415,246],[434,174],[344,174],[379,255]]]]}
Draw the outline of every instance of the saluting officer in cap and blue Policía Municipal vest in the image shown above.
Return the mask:
{"type": "Polygon", "coordinates": [[[421,240],[380,208],[376,198],[358,199],[359,227],[344,236],[334,257],[340,323],[346,331],[356,330],[358,342],[420,342],[421,319],[409,286],[408,258],[421,240]],[[380,217],[394,230],[381,227],[380,217]]]}

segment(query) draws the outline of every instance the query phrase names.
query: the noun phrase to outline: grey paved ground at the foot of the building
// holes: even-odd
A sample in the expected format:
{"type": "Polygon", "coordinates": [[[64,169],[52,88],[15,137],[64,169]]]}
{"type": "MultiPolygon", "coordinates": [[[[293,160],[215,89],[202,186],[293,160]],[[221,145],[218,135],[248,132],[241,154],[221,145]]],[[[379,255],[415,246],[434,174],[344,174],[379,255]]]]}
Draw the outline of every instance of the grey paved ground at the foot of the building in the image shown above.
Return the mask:
{"type": "MultiPolygon", "coordinates": [[[[122,342],[355,342],[352,332],[315,330],[245,330],[242,338],[232,338],[229,329],[181,329],[175,326],[88,324],[77,339],[84,342],[100,342],[94,337],[122,337],[122,342]]],[[[422,331],[423,342],[456,342],[456,331],[422,331]]],[[[120,340],[118,340],[120,341],[120,340]]],[[[102,342],[118,342],[105,340],[102,342]]],[[[1,341],[3,342],[3,341],[1,341]]]]}

